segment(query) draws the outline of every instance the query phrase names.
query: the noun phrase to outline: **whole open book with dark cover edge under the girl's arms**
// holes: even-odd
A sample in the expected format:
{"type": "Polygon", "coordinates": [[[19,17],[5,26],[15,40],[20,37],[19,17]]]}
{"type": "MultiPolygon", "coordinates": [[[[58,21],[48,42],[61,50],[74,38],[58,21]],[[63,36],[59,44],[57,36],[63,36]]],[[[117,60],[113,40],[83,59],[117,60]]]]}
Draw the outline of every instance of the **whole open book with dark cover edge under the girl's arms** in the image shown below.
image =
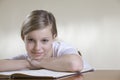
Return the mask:
{"type": "Polygon", "coordinates": [[[79,72],[58,72],[47,69],[40,70],[21,70],[21,71],[9,71],[0,72],[0,79],[12,78],[12,79],[28,79],[28,78],[43,78],[43,79],[58,79],[62,77],[68,77],[72,75],[82,74],[93,71],[93,68],[85,63],[82,71],[79,72]]]}

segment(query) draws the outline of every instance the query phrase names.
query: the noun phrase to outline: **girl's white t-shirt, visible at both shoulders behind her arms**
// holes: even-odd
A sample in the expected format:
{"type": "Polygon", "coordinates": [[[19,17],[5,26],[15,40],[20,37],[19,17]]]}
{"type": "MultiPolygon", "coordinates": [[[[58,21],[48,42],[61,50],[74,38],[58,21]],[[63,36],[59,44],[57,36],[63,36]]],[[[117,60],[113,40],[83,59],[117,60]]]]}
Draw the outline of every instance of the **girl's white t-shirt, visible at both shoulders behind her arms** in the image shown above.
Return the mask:
{"type": "MultiPolygon", "coordinates": [[[[52,44],[52,47],[53,47],[52,57],[59,57],[64,54],[79,55],[77,49],[73,48],[71,45],[69,45],[63,41],[54,41],[52,44]]],[[[16,57],[13,57],[12,59],[20,60],[20,59],[26,59],[26,58],[28,58],[28,55],[25,53],[25,54],[20,54],[16,57]]]]}

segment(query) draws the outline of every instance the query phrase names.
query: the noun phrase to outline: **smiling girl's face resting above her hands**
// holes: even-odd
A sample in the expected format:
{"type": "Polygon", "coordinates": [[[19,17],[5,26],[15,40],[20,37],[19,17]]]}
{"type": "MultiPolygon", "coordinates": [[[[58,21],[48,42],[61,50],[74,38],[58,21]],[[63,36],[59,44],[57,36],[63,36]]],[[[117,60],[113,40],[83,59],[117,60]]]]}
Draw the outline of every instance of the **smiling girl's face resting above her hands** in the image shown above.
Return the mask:
{"type": "Polygon", "coordinates": [[[53,36],[51,27],[34,30],[24,36],[28,56],[31,59],[42,59],[52,55],[53,36]]]}

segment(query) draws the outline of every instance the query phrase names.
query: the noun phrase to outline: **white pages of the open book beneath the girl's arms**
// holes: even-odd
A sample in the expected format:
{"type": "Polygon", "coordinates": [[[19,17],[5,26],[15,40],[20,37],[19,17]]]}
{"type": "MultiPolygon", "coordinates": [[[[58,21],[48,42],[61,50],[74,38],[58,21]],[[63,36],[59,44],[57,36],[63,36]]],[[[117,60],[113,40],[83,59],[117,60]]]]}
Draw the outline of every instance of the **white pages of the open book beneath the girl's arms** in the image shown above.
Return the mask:
{"type": "Polygon", "coordinates": [[[52,70],[40,69],[40,70],[22,70],[22,71],[10,71],[10,72],[0,72],[1,75],[12,75],[14,73],[26,74],[30,76],[43,76],[43,77],[60,77],[64,75],[71,75],[72,72],[57,72],[52,70]]]}

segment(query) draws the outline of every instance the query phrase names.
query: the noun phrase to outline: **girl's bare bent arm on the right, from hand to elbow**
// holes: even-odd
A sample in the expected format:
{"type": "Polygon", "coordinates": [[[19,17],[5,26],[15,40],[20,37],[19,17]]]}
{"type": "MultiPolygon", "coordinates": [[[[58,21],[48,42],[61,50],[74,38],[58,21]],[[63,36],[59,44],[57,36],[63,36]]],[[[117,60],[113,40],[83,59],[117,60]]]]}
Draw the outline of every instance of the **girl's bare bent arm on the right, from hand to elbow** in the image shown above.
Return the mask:
{"type": "Polygon", "coordinates": [[[36,68],[46,68],[57,71],[80,71],[83,63],[79,55],[63,55],[57,58],[45,58],[30,62],[36,68]]]}

